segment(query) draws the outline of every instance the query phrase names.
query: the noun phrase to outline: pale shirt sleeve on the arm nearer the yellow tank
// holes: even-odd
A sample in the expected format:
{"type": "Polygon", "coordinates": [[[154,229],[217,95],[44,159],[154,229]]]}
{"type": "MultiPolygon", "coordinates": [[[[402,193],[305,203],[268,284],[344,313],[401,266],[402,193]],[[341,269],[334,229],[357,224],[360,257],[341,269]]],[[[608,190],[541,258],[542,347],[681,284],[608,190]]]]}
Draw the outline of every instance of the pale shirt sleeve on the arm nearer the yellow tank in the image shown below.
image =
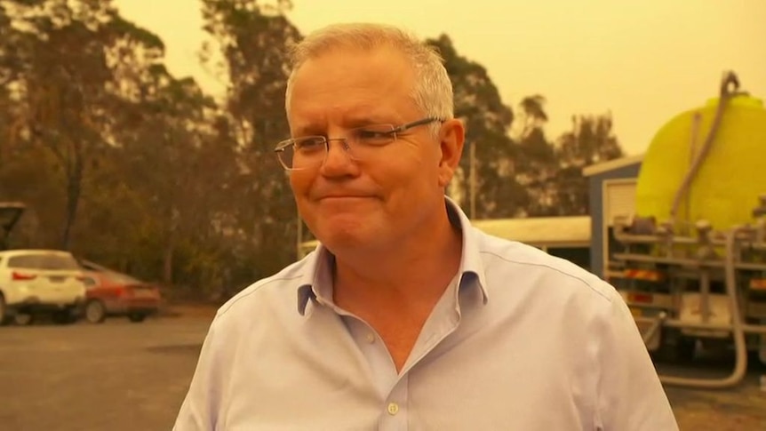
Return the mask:
{"type": "Polygon", "coordinates": [[[673,410],[625,301],[610,285],[597,353],[598,431],[677,431],[673,410]]]}

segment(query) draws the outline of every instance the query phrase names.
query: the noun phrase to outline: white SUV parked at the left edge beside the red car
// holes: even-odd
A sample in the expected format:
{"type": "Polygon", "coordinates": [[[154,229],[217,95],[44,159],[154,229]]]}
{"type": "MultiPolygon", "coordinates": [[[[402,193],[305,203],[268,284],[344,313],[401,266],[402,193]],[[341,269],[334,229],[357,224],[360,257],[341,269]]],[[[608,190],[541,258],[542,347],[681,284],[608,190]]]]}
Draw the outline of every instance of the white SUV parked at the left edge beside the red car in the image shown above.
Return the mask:
{"type": "Polygon", "coordinates": [[[0,324],[29,324],[40,313],[72,323],[84,302],[82,268],[68,251],[0,251],[0,324]]]}

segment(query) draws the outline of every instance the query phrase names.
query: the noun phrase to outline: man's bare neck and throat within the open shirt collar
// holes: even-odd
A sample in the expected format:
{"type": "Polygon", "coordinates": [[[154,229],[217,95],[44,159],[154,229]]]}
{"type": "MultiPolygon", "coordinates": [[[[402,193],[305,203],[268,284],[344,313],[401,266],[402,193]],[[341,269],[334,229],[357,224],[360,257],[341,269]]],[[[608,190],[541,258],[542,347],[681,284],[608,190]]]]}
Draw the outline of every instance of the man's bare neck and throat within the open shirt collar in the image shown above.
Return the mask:
{"type": "Polygon", "coordinates": [[[462,235],[446,217],[427,236],[386,253],[336,256],[335,304],[377,331],[396,371],[460,266],[462,235]]]}

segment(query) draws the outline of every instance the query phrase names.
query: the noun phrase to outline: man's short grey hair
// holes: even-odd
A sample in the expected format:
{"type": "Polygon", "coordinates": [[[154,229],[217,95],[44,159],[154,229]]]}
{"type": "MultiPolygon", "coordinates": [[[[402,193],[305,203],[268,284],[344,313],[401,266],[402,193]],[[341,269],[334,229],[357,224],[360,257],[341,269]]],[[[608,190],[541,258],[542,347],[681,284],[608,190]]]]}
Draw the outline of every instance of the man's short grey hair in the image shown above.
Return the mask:
{"type": "MultiPolygon", "coordinates": [[[[411,98],[425,116],[442,120],[454,116],[452,84],[439,52],[401,28],[371,23],[331,25],[315,31],[292,46],[285,110],[289,114],[295,73],[304,62],[335,48],[370,51],[379,47],[393,48],[411,61],[416,74],[411,98]]],[[[439,124],[435,124],[434,130],[438,131],[438,127],[439,124]]]]}

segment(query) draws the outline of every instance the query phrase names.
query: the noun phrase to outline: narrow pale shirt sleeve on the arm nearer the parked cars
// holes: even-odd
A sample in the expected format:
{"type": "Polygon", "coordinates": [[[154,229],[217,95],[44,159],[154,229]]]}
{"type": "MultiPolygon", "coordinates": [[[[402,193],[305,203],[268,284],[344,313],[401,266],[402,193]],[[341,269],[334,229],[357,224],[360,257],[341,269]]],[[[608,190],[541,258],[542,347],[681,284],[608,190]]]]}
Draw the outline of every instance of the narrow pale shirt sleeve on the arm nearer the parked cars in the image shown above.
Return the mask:
{"type": "Polygon", "coordinates": [[[219,343],[219,339],[216,337],[215,323],[216,321],[213,320],[203,341],[194,376],[191,379],[187,395],[181,403],[172,431],[213,431],[216,429],[222,376],[219,375],[221,368],[216,365],[214,355],[217,350],[215,346],[219,343]]]}

